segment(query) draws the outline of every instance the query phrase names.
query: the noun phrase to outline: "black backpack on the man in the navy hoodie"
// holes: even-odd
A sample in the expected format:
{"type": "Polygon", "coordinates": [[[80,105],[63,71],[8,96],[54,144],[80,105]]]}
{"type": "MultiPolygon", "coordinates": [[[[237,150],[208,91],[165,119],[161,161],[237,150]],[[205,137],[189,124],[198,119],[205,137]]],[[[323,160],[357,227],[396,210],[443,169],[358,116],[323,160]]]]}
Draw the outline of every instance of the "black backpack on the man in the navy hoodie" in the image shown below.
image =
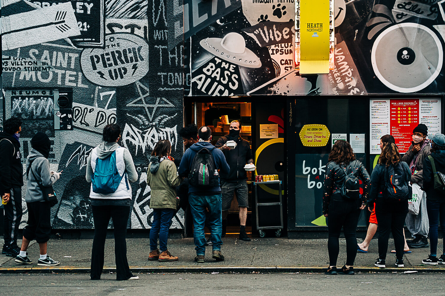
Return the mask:
{"type": "Polygon", "coordinates": [[[202,189],[219,185],[219,175],[214,173],[216,167],[212,155],[213,149],[204,147],[195,154],[190,166],[190,185],[202,189]]]}

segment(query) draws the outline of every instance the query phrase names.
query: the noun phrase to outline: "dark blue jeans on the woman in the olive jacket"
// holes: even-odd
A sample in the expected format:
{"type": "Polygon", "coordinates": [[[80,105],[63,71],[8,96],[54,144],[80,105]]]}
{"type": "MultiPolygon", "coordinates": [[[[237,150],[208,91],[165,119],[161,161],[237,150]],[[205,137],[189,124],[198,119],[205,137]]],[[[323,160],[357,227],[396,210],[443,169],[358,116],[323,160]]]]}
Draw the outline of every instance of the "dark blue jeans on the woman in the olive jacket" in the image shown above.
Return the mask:
{"type": "Polygon", "coordinates": [[[170,221],[173,218],[174,209],[153,209],[153,223],[150,229],[150,251],[158,249],[159,235],[159,251],[167,250],[168,230],[170,229],[170,221]]]}

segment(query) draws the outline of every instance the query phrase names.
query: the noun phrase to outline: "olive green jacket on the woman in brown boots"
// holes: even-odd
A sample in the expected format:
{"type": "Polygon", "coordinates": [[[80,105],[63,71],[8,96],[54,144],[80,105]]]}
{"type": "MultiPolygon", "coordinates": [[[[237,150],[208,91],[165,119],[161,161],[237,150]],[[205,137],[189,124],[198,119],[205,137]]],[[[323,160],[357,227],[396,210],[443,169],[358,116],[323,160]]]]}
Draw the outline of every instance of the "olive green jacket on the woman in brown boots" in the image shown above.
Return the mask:
{"type": "Polygon", "coordinates": [[[159,164],[156,173],[150,173],[150,165],[147,171],[147,185],[151,189],[151,209],[176,209],[176,191],[174,187],[181,183],[176,174],[174,162],[166,159],[159,164]]]}

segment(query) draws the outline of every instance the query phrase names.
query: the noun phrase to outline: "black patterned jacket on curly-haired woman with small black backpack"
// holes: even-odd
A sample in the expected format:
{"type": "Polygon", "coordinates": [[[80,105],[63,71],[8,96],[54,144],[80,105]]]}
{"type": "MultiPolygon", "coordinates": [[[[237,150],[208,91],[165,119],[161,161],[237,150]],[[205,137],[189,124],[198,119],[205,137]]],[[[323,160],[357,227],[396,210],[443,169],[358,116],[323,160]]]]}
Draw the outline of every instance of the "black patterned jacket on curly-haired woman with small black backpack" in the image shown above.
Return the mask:
{"type": "Polygon", "coordinates": [[[356,176],[364,183],[362,201],[366,200],[371,185],[371,178],[368,171],[360,161],[352,161],[345,165],[344,163],[337,164],[335,162],[328,162],[326,165],[326,175],[324,176],[323,185],[323,214],[328,213],[329,202],[334,193],[340,193],[340,187],[346,175],[352,173],[356,169],[356,176]]]}

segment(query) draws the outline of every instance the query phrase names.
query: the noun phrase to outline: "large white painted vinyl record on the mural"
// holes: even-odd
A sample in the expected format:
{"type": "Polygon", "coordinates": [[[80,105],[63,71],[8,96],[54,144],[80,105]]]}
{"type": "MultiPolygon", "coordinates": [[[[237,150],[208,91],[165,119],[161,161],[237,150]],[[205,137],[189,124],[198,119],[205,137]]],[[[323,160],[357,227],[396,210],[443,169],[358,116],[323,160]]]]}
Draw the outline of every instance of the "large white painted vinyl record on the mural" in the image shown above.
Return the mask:
{"type": "Polygon", "coordinates": [[[414,23],[384,30],[371,51],[372,68],[380,81],[394,91],[420,91],[442,69],[443,48],[436,34],[414,23]]]}

